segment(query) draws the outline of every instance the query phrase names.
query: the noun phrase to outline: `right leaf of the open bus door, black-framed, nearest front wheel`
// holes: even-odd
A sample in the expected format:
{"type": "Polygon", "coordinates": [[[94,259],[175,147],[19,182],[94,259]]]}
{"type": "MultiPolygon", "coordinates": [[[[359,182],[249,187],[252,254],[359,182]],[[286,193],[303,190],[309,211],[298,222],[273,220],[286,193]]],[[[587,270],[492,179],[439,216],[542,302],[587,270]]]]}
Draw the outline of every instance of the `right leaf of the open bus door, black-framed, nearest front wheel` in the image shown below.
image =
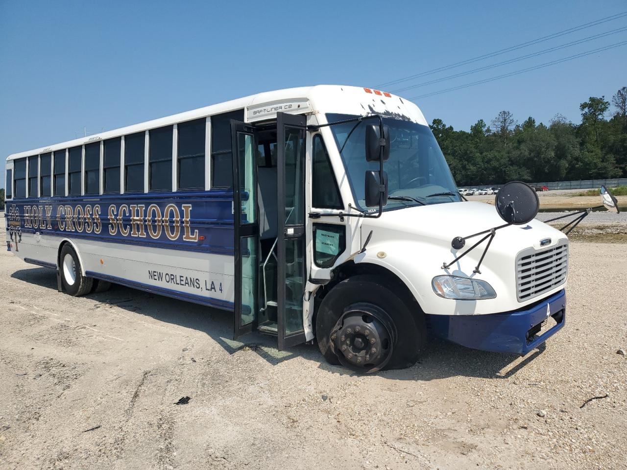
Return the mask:
{"type": "Polygon", "coordinates": [[[305,341],[305,138],[303,116],[277,113],[278,347],[305,341]],[[283,217],[281,215],[283,214],[283,217]]]}

